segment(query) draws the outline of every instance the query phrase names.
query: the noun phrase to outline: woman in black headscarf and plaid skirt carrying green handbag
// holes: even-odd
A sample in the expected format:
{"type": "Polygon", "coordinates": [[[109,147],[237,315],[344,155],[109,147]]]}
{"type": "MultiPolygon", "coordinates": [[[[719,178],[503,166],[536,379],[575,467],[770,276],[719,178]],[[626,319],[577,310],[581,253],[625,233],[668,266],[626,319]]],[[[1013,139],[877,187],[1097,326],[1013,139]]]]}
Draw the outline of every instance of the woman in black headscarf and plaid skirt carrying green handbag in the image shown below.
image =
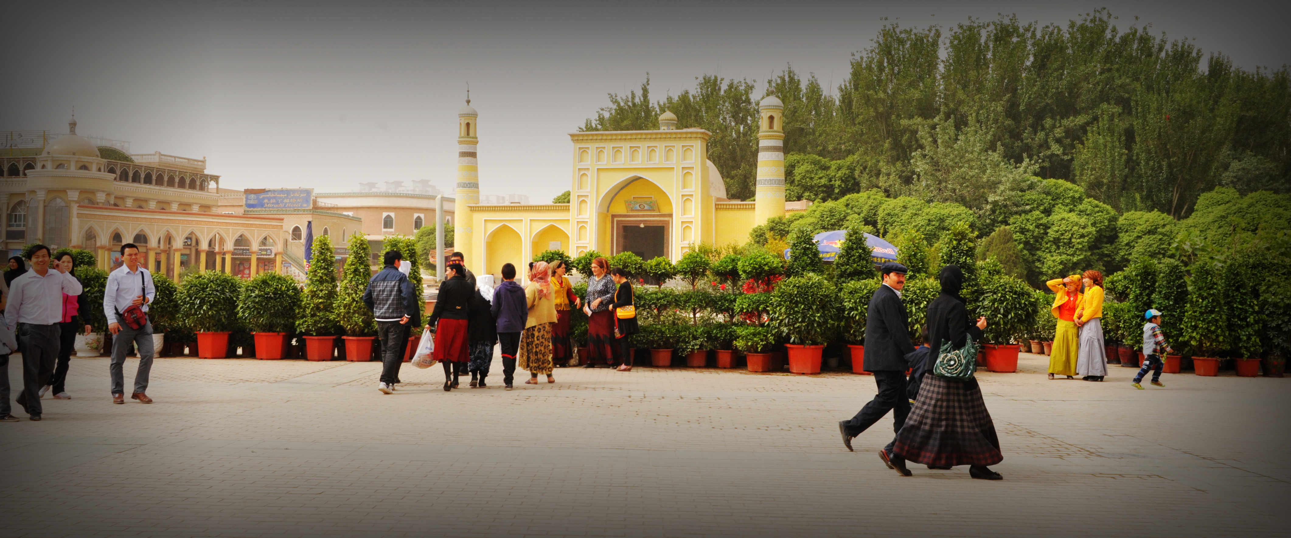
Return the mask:
{"type": "MultiPolygon", "coordinates": [[[[985,317],[979,317],[976,325],[970,323],[964,299],[959,297],[963,288],[959,266],[942,267],[940,279],[941,294],[928,304],[928,346],[932,355],[928,356],[926,373],[931,373],[944,342],[958,350],[968,343],[970,337],[980,341],[981,330],[986,328],[985,317]]],[[[986,467],[1004,457],[999,453],[999,437],[981,399],[977,379],[923,374],[913,381],[920,384],[919,395],[896,436],[892,452],[933,468],[968,464],[968,473],[975,479],[1003,479],[986,467]]]]}

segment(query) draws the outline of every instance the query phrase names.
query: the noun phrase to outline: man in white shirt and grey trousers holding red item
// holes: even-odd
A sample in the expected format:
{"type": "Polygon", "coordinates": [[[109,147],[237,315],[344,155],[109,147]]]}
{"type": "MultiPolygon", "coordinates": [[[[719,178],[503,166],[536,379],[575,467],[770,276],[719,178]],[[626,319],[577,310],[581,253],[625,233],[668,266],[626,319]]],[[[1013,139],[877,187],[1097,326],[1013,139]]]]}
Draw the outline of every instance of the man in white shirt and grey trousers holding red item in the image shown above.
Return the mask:
{"type": "MultiPolygon", "coordinates": [[[[107,316],[107,330],[112,332],[112,363],[107,370],[112,377],[112,403],[125,403],[125,381],[121,368],[125,365],[125,354],[130,352],[130,344],[138,350],[139,369],[134,374],[134,392],[130,400],[141,404],[151,404],[152,399],[145,392],[148,388],[148,373],[152,372],[152,321],[148,320],[138,329],[130,329],[125,324],[121,312],[130,306],[138,306],[145,312],[148,303],[156,298],[158,290],[152,286],[152,274],[139,266],[139,248],[133,243],[121,245],[121,259],[125,262],[116,271],[107,275],[107,286],[103,290],[103,314],[107,316]]],[[[232,312],[230,312],[231,315],[232,312]]]]}

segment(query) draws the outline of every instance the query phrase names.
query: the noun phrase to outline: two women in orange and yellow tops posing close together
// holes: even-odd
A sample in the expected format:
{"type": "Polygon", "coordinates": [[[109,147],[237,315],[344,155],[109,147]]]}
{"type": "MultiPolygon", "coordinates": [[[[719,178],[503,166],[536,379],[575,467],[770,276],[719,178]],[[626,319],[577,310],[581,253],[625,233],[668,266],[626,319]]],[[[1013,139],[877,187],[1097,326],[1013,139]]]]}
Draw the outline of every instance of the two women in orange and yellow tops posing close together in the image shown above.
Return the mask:
{"type": "Polygon", "coordinates": [[[1086,271],[1050,280],[1046,285],[1053,290],[1051,311],[1057,317],[1048,378],[1081,375],[1084,381],[1103,381],[1108,374],[1103,343],[1103,274],[1086,271]]]}

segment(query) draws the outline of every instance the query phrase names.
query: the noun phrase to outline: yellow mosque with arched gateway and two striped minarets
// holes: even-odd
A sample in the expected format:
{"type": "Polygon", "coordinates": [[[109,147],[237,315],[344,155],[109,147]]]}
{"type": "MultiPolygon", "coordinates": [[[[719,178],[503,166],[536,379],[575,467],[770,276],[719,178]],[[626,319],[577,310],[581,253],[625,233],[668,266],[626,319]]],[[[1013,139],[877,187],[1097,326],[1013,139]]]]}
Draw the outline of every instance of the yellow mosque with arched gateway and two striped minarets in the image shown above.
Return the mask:
{"type": "Polygon", "coordinates": [[[700,244],[744,244],[771,217],[804,210],[785,203],[784,105],[760,103],[755,201],[728,200],[707,159],[711,133],[678,129],[664,112],[658,130],[569,133],[569,203],[480,205],[476,146],[479,114],[466,101],[458,115],[456,249],[478,274],[523,267],[544,250],[572,257],[634,252],[671,261],[700,244]]]}

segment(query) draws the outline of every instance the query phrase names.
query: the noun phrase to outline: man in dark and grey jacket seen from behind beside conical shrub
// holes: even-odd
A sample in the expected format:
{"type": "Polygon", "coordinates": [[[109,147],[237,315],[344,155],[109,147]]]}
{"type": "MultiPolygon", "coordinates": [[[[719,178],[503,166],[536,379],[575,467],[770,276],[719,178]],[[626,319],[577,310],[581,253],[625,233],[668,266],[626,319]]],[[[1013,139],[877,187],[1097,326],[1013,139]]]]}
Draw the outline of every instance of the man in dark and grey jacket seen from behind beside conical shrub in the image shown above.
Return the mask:
{"type": "Polygon", "coordinates": [[[404,346],[408,344],[408,323],[416,314],[416,294],[408,276],[399,271],[403,254],[389,250],[382,257],[385,267],[368,280],[363,290],[363,304],[377,320],[377,337],[381,339],[381,379],[377,390],[381,394],[394,394],[399,382],[399,368],[403,365],[404,346]]]}

